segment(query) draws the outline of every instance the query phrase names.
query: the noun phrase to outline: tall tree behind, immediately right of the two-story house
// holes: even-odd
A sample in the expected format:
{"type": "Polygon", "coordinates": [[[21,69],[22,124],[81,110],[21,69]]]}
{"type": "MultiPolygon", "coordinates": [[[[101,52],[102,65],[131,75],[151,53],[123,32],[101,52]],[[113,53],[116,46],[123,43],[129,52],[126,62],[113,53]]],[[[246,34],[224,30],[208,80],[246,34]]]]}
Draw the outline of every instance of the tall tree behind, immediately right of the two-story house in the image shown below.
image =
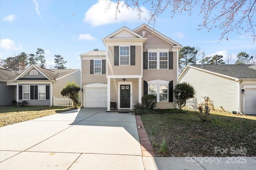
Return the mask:
{"type": "Polygon", "coordinates": [[[195,47],[185,46],[179,51],[179,71],[182,72],[186,65],[196,64],[198,50],[195,47]]]}

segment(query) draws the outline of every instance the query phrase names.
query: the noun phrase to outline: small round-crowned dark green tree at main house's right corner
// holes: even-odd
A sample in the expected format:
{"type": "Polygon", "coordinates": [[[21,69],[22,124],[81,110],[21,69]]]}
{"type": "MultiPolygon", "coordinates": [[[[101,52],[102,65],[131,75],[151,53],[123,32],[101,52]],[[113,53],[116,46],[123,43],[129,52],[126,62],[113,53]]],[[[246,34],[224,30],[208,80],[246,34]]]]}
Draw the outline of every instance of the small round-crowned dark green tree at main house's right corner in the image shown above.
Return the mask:
{"type": "Polygon", "coordinates": [[[190,86],[187,82],[176,84],[174,90],[174,97],[178,104],[179,109],[186,105],[186,100],[193,98],[195,94],[194,87],[190,86]]]}

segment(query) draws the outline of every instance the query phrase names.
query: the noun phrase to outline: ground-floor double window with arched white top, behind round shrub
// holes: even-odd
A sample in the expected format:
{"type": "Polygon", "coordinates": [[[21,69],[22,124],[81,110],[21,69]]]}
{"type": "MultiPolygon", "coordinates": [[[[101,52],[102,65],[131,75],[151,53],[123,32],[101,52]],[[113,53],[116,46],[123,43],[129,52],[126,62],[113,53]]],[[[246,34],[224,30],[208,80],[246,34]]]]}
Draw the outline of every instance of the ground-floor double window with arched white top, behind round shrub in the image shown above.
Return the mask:
{"type": "Polygon", "coordinates": [[[148,94],[156,96],[157,102],[168,102],[168,85],[150,84],[148,85],[148,94]]]}

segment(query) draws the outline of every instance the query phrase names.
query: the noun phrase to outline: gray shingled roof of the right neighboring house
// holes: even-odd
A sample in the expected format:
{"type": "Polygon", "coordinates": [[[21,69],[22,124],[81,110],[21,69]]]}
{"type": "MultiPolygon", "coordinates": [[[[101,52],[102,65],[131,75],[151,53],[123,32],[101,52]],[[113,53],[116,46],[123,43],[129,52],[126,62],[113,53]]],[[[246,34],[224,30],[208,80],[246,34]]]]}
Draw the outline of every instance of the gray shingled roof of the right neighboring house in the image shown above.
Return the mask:
{"type": "MultiPolygon", "coordinates": [[[[196,68],[198,70],[204,70],[206,72],[212,72],[213,74],[221,74],[223,76],[229,76],[232,78],[256,78],[256,65],[237,65],[237,64],[218,64],[218,65],[187,65],[182,71],[182,74],[188,67],[196,68]]],[[[182,75],[180,74],[180,76],[182,75]]]]}

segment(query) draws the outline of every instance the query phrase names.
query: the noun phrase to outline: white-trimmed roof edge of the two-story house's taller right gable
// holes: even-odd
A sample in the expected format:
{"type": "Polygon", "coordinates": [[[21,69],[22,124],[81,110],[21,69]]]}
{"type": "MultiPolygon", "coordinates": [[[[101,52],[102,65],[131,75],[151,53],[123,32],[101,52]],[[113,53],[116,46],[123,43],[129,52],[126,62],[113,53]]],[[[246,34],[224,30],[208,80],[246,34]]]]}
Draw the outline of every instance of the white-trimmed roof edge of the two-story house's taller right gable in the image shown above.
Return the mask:
{"type": "Polygon", "coordinates": [[[140,25],[139,27],[135,28],[133,31],[134,32],[138,32],[142,29],[146,29],[148,31],[150,31],[151,33],[153,33],[154,35],[157,35],[158,37],[164,39],[165,41],[167,41],[168,43],[171,43],[173,44],[174,46],[178,47],[178,48],[181,48],[182,45],[180,45],[179,43],[177,43],[176,41],[170,39],[169,37],[166,37],[164,34],[156,31],[155,29],[151,28],[150,26],[146,25],[145,23],[140,25]]]}

